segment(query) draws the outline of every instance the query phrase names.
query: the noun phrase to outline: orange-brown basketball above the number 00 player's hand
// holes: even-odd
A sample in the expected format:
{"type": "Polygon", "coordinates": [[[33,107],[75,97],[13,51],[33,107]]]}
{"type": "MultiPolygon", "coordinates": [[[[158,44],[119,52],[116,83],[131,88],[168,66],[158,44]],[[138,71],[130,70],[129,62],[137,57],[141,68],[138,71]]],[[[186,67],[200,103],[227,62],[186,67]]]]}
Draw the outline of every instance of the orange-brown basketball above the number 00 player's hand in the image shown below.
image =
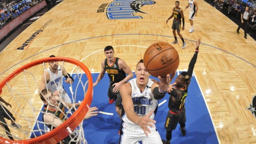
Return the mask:
{"type": "Polygon", "coordinates": [[[143,57],[146,70],[154,77],[166,78],[167,74],[173,74],[180,63],[177,50],[165,42],[154,43],[149,46],[143,57]]]}

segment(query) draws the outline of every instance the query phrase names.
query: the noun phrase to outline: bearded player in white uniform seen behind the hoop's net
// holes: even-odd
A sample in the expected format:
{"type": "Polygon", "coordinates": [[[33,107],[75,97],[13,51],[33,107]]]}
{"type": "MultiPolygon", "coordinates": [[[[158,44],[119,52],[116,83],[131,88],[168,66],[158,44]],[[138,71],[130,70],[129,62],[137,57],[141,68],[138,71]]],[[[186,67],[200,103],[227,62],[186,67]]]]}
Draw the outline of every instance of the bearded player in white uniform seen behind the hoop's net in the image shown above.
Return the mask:
{"type": "MultiPolygon", "coordinates": [[[[50,57],[55,56],[50,55],[50,57]]],[[[65,82],[68,84],[72,84],[74,82],[74,79],[72,78],[72,76],[70,76],[69,73],[66,72],[65,68],[62,65],[59,65],[57,61],[49,62],[49,65],[50,67],[47,68],[47,70],[45,70],[43,73],[39,86],[40,92],[43,89],[46,89],[47,86],[47,89],[53,91],[54,95],[59,95],[63,101],[71,103],[70,97],[62,86],[62,76],[65,76],[65,82]]]]}

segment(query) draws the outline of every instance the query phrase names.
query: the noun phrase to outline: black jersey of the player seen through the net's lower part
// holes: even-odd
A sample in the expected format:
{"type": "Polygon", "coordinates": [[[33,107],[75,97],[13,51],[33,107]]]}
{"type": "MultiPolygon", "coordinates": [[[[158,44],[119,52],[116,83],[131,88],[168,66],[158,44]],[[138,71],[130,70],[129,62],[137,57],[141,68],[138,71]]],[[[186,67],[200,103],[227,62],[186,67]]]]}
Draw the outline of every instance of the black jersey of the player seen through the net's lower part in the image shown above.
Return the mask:
{"type": "MultiPolygon", "coordinates": [[[[58,105],[59,105],[58,110],[51,110],[51,109],[47,108],[47,105],[44,105],[43,112],[44,113],[52,113],[52,114],[54,114],[55,117],[58,117],[60,120],[62,120],[64,122],[66,120],[66,118],[65,118],[65,108],[64,108],[63,104],[60,101],[57,100],[57,102],[58,102],[58,105]]],[[[43,117],[44,117],[44,113],[43,113],[43,117]]],[[[43,122],[44,122],[44,118],[43,118],[43,122]]],[[[47,125],[47,127],[50,130],[55,128],[55,127],[52,127],[51,125],[47,125]]]]}

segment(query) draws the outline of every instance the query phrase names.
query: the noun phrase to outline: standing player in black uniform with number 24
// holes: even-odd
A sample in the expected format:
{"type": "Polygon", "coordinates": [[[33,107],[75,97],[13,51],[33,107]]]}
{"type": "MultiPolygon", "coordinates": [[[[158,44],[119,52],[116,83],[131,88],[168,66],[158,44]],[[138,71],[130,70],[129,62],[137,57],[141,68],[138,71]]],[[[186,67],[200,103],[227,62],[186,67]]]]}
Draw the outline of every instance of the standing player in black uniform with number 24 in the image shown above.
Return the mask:
{"type": "Polygon", "coordinates": [[[182,18],[182,30],[184,30],[184,26],[185,26],[185,20],[184,20],[184,14],[183,14],[183,10],[179,7],[180,6],[180,2],[179,1],[175,1],[175,7],[173,9],[173,12],[171,14],[171,16],[166,20],[166,23],[168,23],[168,21],[174,17],[174,21],[172,23],[172,33],[174,35],[175,41],[172,42],[172,44],[176,44],[178,43],[177,37],[176,37],[176,30],[177,30],[177,34],[180,36],[183,45],[182,45],[182,49],[184,49],[186,47],[186,42],[184,41],[181,33],[180,33],[180,28],[181,28],[181,18],[182,18]]]}

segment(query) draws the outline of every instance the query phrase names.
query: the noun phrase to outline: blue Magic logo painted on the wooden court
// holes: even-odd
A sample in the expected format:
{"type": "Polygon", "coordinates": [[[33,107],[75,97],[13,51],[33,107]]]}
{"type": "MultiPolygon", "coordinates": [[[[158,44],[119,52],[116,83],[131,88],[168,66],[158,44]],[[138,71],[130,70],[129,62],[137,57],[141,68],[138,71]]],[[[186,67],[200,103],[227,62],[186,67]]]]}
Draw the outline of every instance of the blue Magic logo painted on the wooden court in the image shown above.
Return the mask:
{"type": "MultiPolygon", "coordinates": [[[[114,0],[108,5],[106,15],[110,20],[138,19],[142,18],[142,16],[135,16],[135,13],[140,12],[146,14],[141,10],[142,6],[153,5],[155,3],[152,0],[114,0]]],[[[102,6],[101,12],[103,12],[102,6]]]]}

